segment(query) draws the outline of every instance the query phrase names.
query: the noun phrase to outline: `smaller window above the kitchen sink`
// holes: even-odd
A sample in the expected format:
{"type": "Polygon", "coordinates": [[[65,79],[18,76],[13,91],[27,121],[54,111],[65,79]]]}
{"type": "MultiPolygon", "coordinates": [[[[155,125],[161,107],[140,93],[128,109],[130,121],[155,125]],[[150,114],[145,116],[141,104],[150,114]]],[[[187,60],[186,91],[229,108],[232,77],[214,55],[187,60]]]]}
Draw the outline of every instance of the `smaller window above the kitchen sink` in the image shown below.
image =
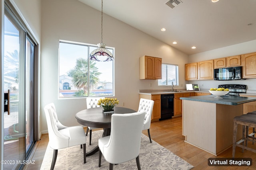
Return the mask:
{"type": "Polygon", "coordinates": [[[159,86],[179,85],[178,66],[172,64],[162,64],[162,79],[158,80],[159,86]]]}

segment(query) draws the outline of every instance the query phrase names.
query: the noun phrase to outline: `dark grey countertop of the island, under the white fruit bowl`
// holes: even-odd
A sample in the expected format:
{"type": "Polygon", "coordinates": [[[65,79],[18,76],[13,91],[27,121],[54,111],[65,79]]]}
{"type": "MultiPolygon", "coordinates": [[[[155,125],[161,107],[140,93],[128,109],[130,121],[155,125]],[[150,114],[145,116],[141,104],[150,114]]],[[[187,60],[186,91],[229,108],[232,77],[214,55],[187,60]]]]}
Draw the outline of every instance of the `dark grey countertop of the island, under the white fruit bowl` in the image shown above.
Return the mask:
{"type": "Polygon", "coordinates": [[[198,102],[225,104],[225,105],[239,105],[239,104],[256,101],[256,98],[253,98],[253,97],[221,96],[223,99],[216,99],[215,97],[216,97],[215,95],[206,95],[206,96],[183,97],[180,99],[192,100],[192,101],[198,101],[198,102]]]}

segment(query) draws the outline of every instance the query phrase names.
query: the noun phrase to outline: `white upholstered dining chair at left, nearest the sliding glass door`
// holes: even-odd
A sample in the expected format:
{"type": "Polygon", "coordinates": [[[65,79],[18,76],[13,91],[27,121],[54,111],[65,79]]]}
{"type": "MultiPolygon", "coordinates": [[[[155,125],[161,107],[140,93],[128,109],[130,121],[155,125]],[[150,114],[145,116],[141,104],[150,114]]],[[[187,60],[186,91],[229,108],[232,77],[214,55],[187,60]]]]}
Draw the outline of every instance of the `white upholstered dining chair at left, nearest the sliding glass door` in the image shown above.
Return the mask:
{"type": "Polygon", "coordinates": [[[51,170],[54,169],[58,149],[76,145],[84,146],[84,163],[86,163],[86,135],[82,126],[66,127],[58,121],[56,109],[53,103],[44,107],[46,115],[49,145],[54,149],[51,170]]]}

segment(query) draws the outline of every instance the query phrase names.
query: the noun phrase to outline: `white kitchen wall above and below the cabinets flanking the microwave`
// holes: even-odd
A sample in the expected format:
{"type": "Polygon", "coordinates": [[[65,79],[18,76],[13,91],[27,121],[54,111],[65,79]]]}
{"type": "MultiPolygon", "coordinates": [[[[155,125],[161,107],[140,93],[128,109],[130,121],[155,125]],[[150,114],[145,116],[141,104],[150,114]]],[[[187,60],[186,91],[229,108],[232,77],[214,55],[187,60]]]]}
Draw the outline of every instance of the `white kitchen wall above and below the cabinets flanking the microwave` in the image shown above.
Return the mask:
{"type": "MultiPolygon", "coordinates": [[[[211,51],[206,51],[203,53],[197,53],[194,55],[190,55],[188,59],[188,63],[194,63],[198,61],[206,61],[211,59],[217,59],[222,57],[230,57],[234,55],[241,55],[246,53],[256,52],[256,40],[248,41],[245,43],[240,43],[236,45],[231,45],[228,47],[223,47],[220,49],[214,49],[211,51]]],[[[217,88],[219,84],[245,84],[247,85],[247,91],[256,90],[256,78],[248,78],[245,80],[193,80],[186,81],[187,84],[198,84],[200,89],[209,89],[209,88],[217,88]]]]}

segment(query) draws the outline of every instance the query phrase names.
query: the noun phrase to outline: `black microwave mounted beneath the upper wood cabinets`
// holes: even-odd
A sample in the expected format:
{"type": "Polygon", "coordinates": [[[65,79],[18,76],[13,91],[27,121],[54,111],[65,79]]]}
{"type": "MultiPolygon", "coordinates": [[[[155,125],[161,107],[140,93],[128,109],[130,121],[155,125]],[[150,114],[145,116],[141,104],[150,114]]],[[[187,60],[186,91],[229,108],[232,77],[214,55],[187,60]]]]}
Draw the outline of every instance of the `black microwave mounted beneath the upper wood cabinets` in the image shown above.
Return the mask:
{"type": "Polygon", "coordinates": [[[242,79],[242,66],[214,69],[214,80],[240,80],[242,79]]]}

